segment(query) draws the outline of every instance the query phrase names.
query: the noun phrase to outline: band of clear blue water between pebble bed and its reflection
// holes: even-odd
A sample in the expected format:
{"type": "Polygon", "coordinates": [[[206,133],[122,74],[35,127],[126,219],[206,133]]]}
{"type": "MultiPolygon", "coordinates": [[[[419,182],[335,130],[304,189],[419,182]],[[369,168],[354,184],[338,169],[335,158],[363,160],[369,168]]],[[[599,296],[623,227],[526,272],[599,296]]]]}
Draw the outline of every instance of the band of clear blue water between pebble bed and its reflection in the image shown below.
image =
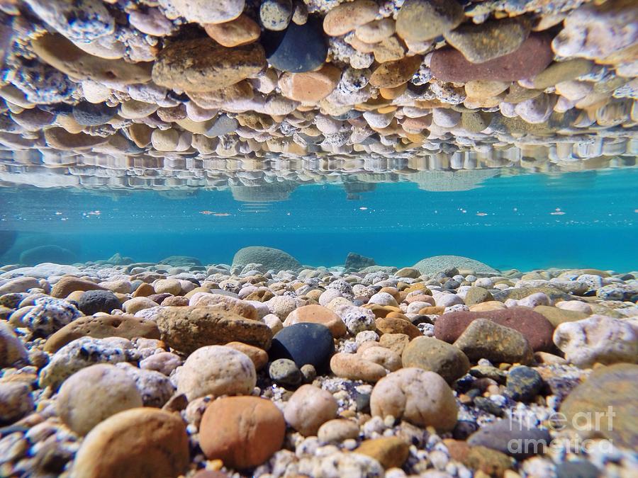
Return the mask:
{"type": "Polygon", "coordinates": [[[228,189],[11,186],[0,188],[0,229],[18,231],[18,239],[0,262],[18,261],[27,247],[57,244],[78,261],[118,252],[135,261],[184,254],[230,263],[243,246],[267,245],[315,266],[340,265],[354,251],[393,266],[457,254],[500,269],[636,271],[637,185],[638,169],[508,171],[449,192],[381,183],[348,195],[342,184],[289,183],[288,199],[272,202],[236,200],[228,189]]]}

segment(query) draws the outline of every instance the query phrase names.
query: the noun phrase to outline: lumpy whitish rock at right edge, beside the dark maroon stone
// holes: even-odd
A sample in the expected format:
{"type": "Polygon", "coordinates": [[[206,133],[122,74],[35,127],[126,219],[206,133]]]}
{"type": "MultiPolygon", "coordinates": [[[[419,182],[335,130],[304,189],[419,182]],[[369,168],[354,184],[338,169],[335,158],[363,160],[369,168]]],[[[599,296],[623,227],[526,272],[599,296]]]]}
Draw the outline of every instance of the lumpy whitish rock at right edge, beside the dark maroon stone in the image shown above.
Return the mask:
{"type": "Polygon", "coordinates": [[[556,327],[554,343],[581,368],[594,363],[638,362],[638,328],[620,319],[593,315],[556,327]]]}

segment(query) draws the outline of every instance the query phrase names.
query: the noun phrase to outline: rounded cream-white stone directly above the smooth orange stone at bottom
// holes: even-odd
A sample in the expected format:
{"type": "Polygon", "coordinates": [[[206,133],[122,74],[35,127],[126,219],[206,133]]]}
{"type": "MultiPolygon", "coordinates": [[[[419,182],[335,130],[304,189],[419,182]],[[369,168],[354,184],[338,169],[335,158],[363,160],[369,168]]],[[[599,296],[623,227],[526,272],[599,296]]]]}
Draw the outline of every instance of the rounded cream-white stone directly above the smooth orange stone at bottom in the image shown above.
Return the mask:
{"type": "Polygon", "coordinates": [[[225,346],[198,348],[177,369],[177,393],[189,402],[212,394],[248,395],[257,383],[257,374],[250,358],[225,346]]]}

